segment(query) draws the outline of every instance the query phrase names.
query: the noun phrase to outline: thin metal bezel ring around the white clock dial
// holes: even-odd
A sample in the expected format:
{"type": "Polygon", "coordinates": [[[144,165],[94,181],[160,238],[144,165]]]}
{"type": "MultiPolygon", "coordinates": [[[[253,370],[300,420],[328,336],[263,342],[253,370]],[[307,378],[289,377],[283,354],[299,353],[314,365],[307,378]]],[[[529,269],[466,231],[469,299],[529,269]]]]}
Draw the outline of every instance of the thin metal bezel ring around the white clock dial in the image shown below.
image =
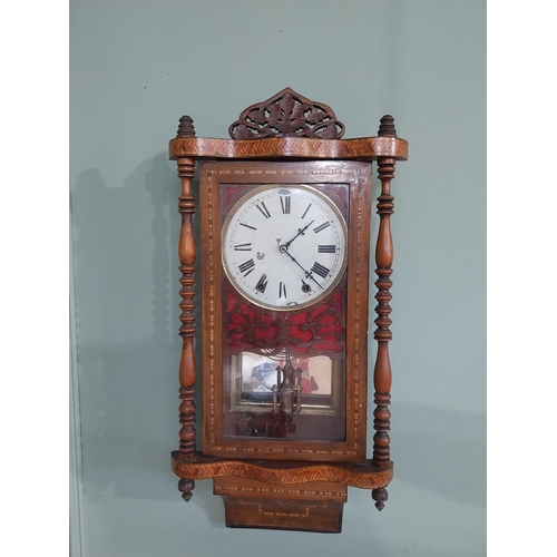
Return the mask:
{"type": "Polygon", "coordinates": [[[228,280],[229,284],[233,286],[233,289],[242,295],[245,300],[247,300],[250,303],[263,307],[266,310],[271,311],[277,311],[277,312],[292,312],[292,311],[297,311],[311,305],[314,305],[315,303],[322,301],[324,297],[326,297],[340,283],[342,277],[345,275],[346,272],[346,264],[348,264],[348,255],[349,255],[349,234],[348,234],[348,226],[345,218],[339,207],[335,205],[335,203],[323,192],[320,192],[316,187],[310,186],[307,184],[300,184],[300,183],[290,183],[290,182],[281,182],[281,183],[274,183],[274,184],[264,184],[258,187],[250,189],[247,193],[242,195],[242,197],[233,205],[228,214],[226,215],[226,218],[224,219],[224,223],[222,225],[222,231],[221,231],[221,262],[222,262],[222,267],[224,271],[224,274],[226,275],[226,278],[228,280]],[[276,305],[272,304],[268,302],[265,302],[262,299],[255,297],[251,292],[247,290],[244,290],[241,287],[241,284],[234,278],[235,273],[229,268],[229,264],[226,261],[226,250],[225,250],[225,238],[228,232],[228,228],[231,224],[234,222],[235,217],[238,215],[238,211],[246,205],[246,202],[248,202],[252,198],[256,198],[262,195],[262,193],[268,190],[268,189],[276,189],[280,190],[281,188],[289,188],[289,189],[303,189],[306,192],[310,192],[314,196],[316,196],[330,211],[331,213],[334,214],[336,217],[339,225],[340,225],[340,231],[339,234],[342,235],[342,238],[344,241],[344,250],[342,253],[342,261],[340,264],[338,264],[334,267],[334,272],[336,273],[335,276],[328,283],[325,287],[323,287],[323,292],[311,296],[309,300],[304,302],[296,303],[295,305],[276,305]]]}

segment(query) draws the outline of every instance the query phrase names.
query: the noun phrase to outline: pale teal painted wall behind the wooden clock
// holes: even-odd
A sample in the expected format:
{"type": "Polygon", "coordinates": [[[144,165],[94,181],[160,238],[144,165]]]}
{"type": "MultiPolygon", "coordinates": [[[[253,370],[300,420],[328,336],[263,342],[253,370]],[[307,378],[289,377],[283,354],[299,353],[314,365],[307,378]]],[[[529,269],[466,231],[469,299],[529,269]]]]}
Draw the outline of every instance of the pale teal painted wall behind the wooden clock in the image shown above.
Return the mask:
{"type": "Polygon", "coordinates": [[[485,11],[70,2],[74,557],[486,554],[485,11]],[[349,490],[340,535],[227,529],[212,482],[186,505],[169,463],[180,342],[167,141],[184,114],[198,136],[226,137],[284,87],[331,106],[345,137],[392,114],[410,143],[393,182],[395,476],[381,514],[349,490]]]}

